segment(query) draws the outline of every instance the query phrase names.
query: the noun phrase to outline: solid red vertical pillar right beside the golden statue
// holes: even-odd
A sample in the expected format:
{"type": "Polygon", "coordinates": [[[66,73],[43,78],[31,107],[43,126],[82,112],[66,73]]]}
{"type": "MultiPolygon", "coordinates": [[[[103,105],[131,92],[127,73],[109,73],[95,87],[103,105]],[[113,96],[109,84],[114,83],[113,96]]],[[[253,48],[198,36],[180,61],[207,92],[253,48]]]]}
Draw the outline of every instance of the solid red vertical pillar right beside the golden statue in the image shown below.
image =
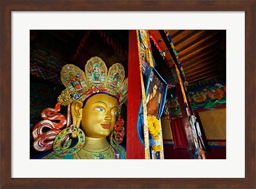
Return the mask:
{"type": "Polygon", "coordinates": [[[126,159],[145,159],[145,150],[137,134],[141,82],[136,30],[129,30],[128,78],[126,159]]]}

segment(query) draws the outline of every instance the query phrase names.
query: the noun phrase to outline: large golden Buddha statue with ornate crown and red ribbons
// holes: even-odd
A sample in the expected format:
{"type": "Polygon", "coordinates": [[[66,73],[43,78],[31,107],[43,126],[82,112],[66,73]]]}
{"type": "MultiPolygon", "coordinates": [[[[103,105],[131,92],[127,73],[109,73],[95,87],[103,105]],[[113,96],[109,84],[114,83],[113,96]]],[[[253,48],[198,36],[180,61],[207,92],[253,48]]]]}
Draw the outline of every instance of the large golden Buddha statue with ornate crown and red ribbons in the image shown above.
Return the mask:
{"type": "MultiPolygon", "coordinates": [[[[53,152],[43,159],[126,159],[125,149],[116,141],[114,129],[116,116],[127,100],[128,80],[124,80],[123,66],[115,63],[108,71],[105,63],[95,56],[87,61],[85,72],[73,64],[65,65],[61,71],[61,81],[66,89],[58,101],[62,105],[71,104],[73,124],[60,129],[53,122],[50,127],[55,135],[52,131],[43,133],[40,124],[34,127],[36,150],[42,149],[47,137],[49,141],[52,135],[55,136],[54,141],[47,144],[51,145],[53,152]]],[[[68,121],[62,122],[65,125],[68,121]]]]}

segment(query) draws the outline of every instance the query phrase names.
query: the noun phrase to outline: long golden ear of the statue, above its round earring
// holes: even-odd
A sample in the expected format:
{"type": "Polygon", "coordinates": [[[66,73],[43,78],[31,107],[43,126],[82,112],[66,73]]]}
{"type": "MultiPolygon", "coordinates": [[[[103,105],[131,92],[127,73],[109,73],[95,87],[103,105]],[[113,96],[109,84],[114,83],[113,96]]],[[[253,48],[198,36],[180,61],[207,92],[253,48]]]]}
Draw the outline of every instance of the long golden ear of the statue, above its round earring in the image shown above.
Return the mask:
{"type": "Polygon", "coordinates": [[[81,101],[73,101],[71,104],[71,114],[73,125],[79,127],[83,114],[83,103],[81,101]]]}

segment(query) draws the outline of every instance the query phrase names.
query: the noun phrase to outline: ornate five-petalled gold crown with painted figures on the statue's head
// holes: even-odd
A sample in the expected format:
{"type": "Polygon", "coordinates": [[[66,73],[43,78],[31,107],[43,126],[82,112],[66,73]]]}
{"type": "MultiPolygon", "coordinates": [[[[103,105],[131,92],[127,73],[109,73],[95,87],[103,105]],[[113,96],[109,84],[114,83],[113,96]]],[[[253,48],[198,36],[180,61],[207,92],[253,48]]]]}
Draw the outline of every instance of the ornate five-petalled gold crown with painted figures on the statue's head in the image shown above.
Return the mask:
{"type": "Polygon", "coordinates": [[[58,97],[62,105],[75,100],[86,102],[86,99],[98,93],[116,97],[120,105],[127,100],[128,78],[124,80],[124,67],[120,63],[113,64],[108,70],[105,62],[94,56],[85,64],[85,72],[73,64],[66,64],[60,75],[66,87],[58,97]]]}

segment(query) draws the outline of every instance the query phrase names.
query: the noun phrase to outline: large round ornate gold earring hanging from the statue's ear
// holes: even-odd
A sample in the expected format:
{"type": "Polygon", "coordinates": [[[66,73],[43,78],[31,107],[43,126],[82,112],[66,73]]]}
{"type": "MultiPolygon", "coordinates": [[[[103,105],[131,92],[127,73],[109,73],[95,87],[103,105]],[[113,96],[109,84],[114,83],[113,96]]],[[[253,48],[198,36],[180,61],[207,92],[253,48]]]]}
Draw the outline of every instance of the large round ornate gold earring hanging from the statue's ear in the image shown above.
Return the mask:
{"type": "Polygon", "coordinates": [[[78,152],[84,145],[85,135],[82,129],[77,126],[71,125],[70,127],[63,129],[54,139],[53,150],[59,155],[69,155],[78,152]],[[76,134],[78,142],[74,147],[69,148],[71,145],[71,139],[68,139],[63,145],[63,138],[68,134],[76,134]]]}

